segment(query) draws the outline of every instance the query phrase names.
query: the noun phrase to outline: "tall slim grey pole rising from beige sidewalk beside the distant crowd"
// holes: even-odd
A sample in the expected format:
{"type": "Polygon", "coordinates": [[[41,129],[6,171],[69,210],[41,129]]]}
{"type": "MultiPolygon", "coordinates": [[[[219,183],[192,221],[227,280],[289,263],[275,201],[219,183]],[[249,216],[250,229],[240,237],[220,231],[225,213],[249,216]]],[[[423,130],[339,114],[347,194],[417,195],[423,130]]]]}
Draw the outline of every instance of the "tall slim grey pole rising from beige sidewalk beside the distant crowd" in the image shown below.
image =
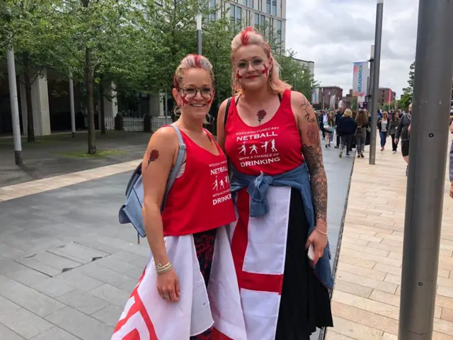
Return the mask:
{"type": "Polygon", "coordinates": [[[376,164],[376,135],[377,135],[377,91],[379,90],[379,72],[381,67],[381,42],[382,42],[382,15],[384,13],[384,0],[377,0],[376,6],[376,32],[374,33],[374,65],[373,65],[373,91],[371,111],[371,134],[369,138],[369,164],[376,164]]]}

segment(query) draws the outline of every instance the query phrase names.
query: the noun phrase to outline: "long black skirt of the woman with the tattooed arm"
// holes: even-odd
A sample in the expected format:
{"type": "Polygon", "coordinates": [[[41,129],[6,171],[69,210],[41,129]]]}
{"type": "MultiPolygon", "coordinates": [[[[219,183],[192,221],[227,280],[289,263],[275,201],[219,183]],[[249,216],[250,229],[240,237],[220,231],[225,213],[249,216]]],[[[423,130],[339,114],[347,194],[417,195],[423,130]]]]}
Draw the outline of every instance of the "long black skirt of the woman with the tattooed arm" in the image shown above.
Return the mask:
{"type": "Polygon", "coordinates": [[[328,289],[315,275],[305,250],[308,233],[302,197],[293,188],[276,340],[309,340],[316,327],[333,327],[328,289]]]}

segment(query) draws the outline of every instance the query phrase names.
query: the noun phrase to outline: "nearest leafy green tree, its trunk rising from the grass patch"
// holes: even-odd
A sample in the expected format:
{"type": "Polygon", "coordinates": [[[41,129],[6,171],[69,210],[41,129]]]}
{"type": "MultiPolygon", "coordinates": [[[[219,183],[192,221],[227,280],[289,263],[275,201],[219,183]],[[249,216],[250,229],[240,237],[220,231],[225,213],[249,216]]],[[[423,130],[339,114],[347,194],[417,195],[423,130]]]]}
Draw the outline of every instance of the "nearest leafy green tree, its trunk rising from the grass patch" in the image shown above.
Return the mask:
{"type": "Polygon", "coordinates": [[[132,0],[59,0],[53,6],[52,27],[65,60],[62,72],[70,70],[86,85],[88,154],[96,154],[93,83],[115,76],[134,83],[132,75],[142,75],[137,74],[142,45],[131,39],[141,29],[138,5],[132,0]]]}

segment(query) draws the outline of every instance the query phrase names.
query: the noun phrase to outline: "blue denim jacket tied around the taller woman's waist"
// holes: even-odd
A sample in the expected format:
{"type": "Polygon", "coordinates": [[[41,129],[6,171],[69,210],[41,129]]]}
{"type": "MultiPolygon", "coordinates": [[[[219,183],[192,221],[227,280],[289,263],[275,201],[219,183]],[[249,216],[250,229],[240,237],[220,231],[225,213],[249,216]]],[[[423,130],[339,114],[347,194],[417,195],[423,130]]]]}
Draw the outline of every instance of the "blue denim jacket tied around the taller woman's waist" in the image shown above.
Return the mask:
{"type": "MultiPolygon", "coordinates": [[[[230,183],[231,193],[236,193],[242,188],[247,188],[248,195],[251,197],[251,217],[262,217],[269,212],[267,198],[269,186],[289,186],[300,191],[302,202],[304,203],[306,219],[309,222],[309,235],[314,232],[316,224],[313,198],[311,196],[309,171],[306,168],[305,163],[298,166],[296,169],[292,169],[284,174],[276,176],[267,176],[263,173],[261,173],[260,176],[241,174],[234,168],[234,166],[231,166],[231,171],[233,174],[230,183]]],[[[305,244],[301,244],[301,246],[305,246],[305,244]]],[[[331,251],[327,242],[323,257],[321,257],[318,263],[316,263],[314,272],[323,285],[329,289],[333,289],[333,276],[331,263],[329,261],[330,258],[331,251]]]]}

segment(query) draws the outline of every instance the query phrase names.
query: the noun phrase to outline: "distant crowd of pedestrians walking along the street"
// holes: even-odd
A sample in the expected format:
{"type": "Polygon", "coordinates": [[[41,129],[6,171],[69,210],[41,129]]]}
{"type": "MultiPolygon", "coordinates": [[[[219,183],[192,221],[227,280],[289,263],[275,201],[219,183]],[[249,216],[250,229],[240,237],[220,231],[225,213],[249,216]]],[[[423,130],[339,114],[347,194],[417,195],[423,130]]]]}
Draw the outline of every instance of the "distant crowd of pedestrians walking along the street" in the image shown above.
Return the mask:
{"type": "MultiPolygon", "coordinates": [[[[371,132],[371,113],[366,110],[351,111],[349,108],[338,110],[316,111],[319,129],[326,148],[331,147],[336,135],[336,149],[340,149],[339,157],[350,156],[352,149],[356,150],[357,158],[364,158],[365,145],[369,145],[371,132]]],[[[391,137],[391,150],[396,154],[401,140],[401,154],[406,164],[409,162],[409,137],[411,132],[412,104],[408,110],[377,111],[377,130],[381,152],[384,152],[386,141],[391,137]]],[[[407,176],[407,167],[406,167],[407,176]]]]}

